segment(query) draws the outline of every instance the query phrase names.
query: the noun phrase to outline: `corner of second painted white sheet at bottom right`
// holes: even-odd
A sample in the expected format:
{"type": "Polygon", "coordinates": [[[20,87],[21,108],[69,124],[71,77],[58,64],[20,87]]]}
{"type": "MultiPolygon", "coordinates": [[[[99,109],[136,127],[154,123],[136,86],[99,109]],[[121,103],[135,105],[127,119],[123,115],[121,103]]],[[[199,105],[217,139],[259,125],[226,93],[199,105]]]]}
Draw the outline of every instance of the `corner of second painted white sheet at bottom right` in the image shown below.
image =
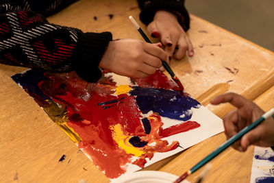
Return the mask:
{"type": "Polygon", "coordinates": [[[270,147],[254,147],[250,182],[274,182],[274,151],[270,147]]]}

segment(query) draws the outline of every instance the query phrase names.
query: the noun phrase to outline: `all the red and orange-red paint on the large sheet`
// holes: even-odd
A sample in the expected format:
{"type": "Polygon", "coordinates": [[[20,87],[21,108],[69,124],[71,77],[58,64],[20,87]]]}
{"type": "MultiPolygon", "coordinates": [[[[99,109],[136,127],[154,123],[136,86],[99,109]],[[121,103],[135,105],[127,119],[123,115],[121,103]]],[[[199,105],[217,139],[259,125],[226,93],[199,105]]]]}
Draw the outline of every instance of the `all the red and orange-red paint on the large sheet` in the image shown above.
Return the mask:
{"type": "MultiPolygon", "coordinates": [[[[108,71],[104,71],[107,73],[108,71]]],[[[114,95],[116,83],[112,78],[103,77],[96,84],[90,84],[79,79],[75,73],[54,74],[47,77],[50,80],[40,82],[39,86],[43,92],[50,96],[55,102],[66,106],[67,125],[82,138],[78,147],[90,156],[92,162],[105,173],[108,178],[118,178],[125,173],[127,163],[144,167],[147,160],[151,160],[155,152],[166,152],[176,149],[177,141],[169,143],[162,140],[163,137],[171,136],[180,132],[199,127],[198,123],[187,121],[162,129],[160,115],[151,114],[149,123],[151,132],[145,133],[142,127],[142,115],[134,97],[127,94],[114,95]],[[98,103],[111,103],[110,108],[102,108],[98,103]],[[125,136],[138,136],[141,141],[148,142],[144,147],[136,147],[145,152],[140,157],[127,154],[112,138],[113,126],[121,124],[125,136]],[[132,160],[134,158],[134,161],[132,160]]],[[[157,71],[146,79],[134,80],[138,86],[164,88],[166,90],[180,90],[178,86],[169,80],[166,75],[157,71]]]]}

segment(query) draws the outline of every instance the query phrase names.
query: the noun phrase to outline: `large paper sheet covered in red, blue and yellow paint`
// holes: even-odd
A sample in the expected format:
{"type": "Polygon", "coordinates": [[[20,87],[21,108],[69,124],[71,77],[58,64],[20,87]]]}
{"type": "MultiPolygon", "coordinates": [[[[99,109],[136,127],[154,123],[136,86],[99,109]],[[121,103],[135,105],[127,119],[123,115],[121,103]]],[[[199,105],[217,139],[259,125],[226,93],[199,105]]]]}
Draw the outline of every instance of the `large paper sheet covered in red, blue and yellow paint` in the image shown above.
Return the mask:
{"type": "Polygon", "coordinates": [[[223,131],[221,119],[160,71],[138,80],[104,71],[97,83],[34,70],[12,79],[110,179],[223,131]]]}

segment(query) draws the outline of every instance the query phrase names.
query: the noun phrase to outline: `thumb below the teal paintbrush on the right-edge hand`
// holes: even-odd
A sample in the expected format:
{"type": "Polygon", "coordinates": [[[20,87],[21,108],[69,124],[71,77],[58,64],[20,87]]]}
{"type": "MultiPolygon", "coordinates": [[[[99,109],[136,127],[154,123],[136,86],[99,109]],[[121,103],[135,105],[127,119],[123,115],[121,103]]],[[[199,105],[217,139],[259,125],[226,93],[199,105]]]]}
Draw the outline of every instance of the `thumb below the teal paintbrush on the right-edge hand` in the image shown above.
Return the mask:
{"type": "Polygon", "coordinates": [[[245,151],[247,150],[247,147],[249,145],[254,145],[260,141],[260,130],[251,130],[244,136],[242,136],[242,140],[240,141],[240,145],[242,146],[242,149],[245,151]]]}

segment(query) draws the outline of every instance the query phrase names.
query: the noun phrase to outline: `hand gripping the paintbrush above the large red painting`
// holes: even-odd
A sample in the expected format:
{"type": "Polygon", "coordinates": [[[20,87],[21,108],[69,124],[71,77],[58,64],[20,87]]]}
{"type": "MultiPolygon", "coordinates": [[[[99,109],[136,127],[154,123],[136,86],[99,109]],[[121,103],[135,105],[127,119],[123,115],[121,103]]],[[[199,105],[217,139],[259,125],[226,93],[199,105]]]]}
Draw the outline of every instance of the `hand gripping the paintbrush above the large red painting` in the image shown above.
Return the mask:
{"type": "Polygon", "coordinates": [[[147,77],[162,66],[168,55],[161,43],[150,44],[140,40],[110,41],[99,67],[127,77],[147,77]]]}

